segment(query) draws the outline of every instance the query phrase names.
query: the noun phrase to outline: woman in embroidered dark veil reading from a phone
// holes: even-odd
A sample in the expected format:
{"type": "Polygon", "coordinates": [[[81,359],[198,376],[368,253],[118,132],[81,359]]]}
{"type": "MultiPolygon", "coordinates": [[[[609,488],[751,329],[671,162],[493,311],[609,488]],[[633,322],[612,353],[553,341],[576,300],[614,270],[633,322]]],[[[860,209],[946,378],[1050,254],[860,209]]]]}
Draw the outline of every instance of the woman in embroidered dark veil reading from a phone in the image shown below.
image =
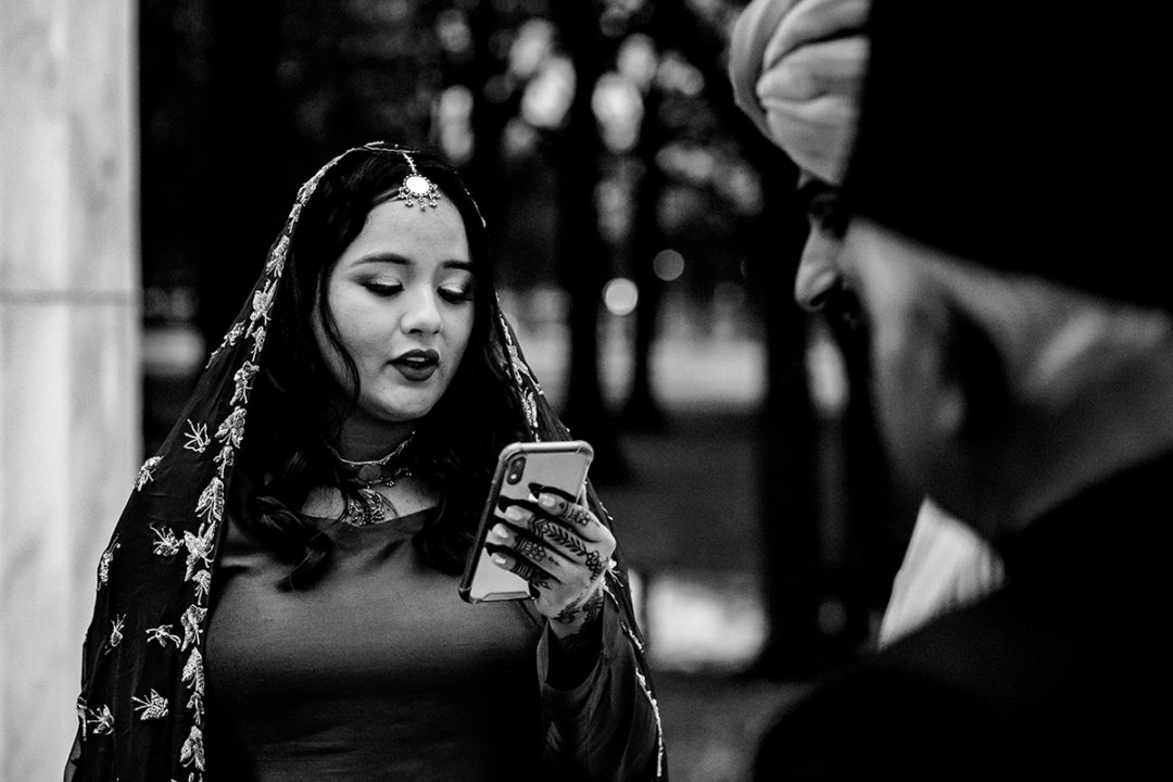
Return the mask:
{"type": "Polygon", "coordinates": [[[590,487],[495,528],[533,600],[459,598],[501,447],[569,437],[487,245],[425,152],[301,188],[101,558],[67,780],[666,777],[590,487]]]}

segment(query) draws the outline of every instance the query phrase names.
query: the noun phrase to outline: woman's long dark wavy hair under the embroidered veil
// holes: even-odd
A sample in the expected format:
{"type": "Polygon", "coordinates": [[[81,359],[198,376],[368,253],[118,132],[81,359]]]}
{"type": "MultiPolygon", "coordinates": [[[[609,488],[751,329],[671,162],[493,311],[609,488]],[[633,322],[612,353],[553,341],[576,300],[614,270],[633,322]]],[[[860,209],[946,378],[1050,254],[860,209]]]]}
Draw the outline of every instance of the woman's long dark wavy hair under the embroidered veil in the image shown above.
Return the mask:
{"type": "MultiPolygon", "coordinates": [[[[264,367],[249,406],[233,505],[242,523],[291,564],[286,586],[305,587],[333,550],[320,522],[298,512],[314,485],[341,487],[326,442],[334,442],[358,402],[359,378],[338,336],[328,298],[319,295],[343,251],[362,230],[371,209],[409,174],[394,148],[360,149],[340,159],[303,209],[265,338],[264,367]],[[338,409],[338,382],[314,339],[326,338],[350,375],[350,408],[338,409]]],[[[463,565],[497,451],[523,431],[523,416],[496,344],[496,294],[488,233],[456,171],[427,151],[407,150],[416,170],[439,185],[460,211],[474,277],[474,320],[465,358],[436,406],[416,427],[413,469],[435,483],[441,508],[414,538],[425,562],[448,573],[463,565]]]]}

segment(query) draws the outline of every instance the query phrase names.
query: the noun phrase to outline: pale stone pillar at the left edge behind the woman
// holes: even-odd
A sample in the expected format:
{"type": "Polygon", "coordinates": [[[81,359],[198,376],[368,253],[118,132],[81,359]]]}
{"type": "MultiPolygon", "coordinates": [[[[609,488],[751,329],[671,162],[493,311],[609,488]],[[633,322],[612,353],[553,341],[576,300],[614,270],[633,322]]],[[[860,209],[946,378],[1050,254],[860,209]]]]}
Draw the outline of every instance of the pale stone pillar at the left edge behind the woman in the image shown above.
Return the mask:
{"type": "Polygon", "coordinates": [[[141,462],[136,4],[0,0],[0,780],[59,780],[141,462]]]}

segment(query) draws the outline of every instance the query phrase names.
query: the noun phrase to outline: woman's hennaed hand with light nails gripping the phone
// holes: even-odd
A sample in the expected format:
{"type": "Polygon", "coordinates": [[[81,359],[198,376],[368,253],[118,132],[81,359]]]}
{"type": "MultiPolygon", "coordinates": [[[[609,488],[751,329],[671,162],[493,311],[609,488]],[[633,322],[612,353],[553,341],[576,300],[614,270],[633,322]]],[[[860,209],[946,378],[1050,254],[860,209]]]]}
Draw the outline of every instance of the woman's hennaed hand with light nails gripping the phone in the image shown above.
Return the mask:
{"type": "Polygon", "coordinates": [[[615,536],[585,504],[542,491],[510,505],[488,533],[501,546],[493,562],[530,584],[538,612],[564,646],[594,626],[603,610],[603,574],[615,565],[615,536]]]}

